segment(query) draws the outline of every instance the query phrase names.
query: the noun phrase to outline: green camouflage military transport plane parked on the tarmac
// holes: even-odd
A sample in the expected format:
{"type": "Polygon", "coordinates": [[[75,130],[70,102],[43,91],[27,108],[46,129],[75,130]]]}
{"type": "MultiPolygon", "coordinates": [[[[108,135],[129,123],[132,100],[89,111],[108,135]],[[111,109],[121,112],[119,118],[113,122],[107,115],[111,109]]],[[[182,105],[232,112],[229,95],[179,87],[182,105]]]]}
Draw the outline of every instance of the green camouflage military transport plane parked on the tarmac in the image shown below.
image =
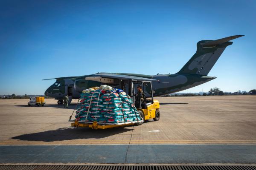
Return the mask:
{"type": "MultiPolygon", "coordinates": [[[[218,40],[202,40],[197,43],[197,51],[191,59],[176,74],[126,74],[126,73],[96,73],[79,77],[58,77],[51,85],[45,95],[54,97],[58,104],[63,104],[63,96],[72,99],[79,99],[81,91],[87,88],[100,85],[111,85],[119,87],[119,83],[124,79],[134,79],[140,81],[152,81],[154,96],[161,96],[209,82],[216,77],[207,76],[215,62],[221,56],[228,45],[232,45],[230,40],[242,37],[235,35],[218,40]],[[157,80],[157,81],[156,81],[157,80]]],[[[46,79],[43,79],[46,80],[46,79]]]]}

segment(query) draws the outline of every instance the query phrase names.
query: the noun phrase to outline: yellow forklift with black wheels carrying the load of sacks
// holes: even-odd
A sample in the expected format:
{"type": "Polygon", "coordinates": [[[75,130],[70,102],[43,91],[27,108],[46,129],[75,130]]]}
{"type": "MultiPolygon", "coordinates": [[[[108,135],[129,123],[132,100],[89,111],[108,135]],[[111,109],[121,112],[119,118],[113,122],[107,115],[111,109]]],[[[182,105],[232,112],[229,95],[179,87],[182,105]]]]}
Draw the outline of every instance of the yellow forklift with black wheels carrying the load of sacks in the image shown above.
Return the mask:
{"type": "MultiPolygon", "coordinates": [[[[134,105],[136,106],[140,116],[143,120],[154,119],[158,121],[160,119],[160,104],[159,101],[154,99],[154,91],[152,90],[151,81],[140,81],[134,79],[121,80],[121,89],[125,91],[126,94],[131,96],[134,105]],[[137,86],[141,85],[144,92],[143,102],[137,99],[137,86]],[[139,101],[139,103],[136,103],[139,101]]],[[[142,125],[143,122],[137,122],[136,125],[142,125]]]]}

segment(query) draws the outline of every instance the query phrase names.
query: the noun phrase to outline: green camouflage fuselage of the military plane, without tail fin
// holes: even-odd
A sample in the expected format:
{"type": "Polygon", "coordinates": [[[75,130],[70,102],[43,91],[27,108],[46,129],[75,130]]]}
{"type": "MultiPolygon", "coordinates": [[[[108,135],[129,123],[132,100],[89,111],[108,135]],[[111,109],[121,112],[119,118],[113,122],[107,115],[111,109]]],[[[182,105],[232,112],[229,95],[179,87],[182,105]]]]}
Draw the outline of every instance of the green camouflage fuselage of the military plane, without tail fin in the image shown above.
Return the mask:
{"type": "MultiPolygon", "coordinates": [[[[201,85],[205,82],[208,82],[216,77],[209,77],[204,75],[197,74],[159,74],[159,75],[141,75],[141,74],[125,74],[125,73],[114,73],[120,75],[129,75],[129,76],[140,76],[144,78],[157,79],[159,81],[152,82],[152,88],[155,91],[154,96],[161,96],[164,94],[175,93],[178,91],[183,91],[188,88],[195,87],[197,85],[201,85]]],[[[94,74],[93,74],[94,75],[94,74]]],[[[84,77],[90,77],[92,75],[87,75],[84,77]]],[[[76,91],[74,87],[74,82],[76,80],[80,80],[83,77],[76,78],[60,78],[57,79],[56,82],[59,82],[60,85],[50,86],[46,91],[45,95],[54,97],[55,99],[62,99],[63,96],[67,95],[67,88],[72,87],[72,98],[79,99],[81,91],[76,91]]],[[[55,83],[56,83],[55,82],[55,83]]],[[[81,89],[87,89],[94,86],[102,85],[101,82],[90,81],[90,85],[80,86],[81,89]]]]}

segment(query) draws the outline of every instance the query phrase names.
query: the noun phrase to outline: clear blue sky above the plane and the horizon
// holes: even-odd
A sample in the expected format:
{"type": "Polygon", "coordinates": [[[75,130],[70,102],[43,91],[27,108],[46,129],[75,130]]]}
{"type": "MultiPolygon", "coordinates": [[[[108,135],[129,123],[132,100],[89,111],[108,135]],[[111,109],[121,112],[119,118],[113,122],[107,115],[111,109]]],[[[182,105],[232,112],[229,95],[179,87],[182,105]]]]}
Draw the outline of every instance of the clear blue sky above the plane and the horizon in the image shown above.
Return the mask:
{"type": "Polygon", "coordinates": [[[175,74],[200,40],[233,40],[209,76],[183,92],[256,88],[256,1],[1,1],[0,94],[44,94],[96,72],[175,74]]]}

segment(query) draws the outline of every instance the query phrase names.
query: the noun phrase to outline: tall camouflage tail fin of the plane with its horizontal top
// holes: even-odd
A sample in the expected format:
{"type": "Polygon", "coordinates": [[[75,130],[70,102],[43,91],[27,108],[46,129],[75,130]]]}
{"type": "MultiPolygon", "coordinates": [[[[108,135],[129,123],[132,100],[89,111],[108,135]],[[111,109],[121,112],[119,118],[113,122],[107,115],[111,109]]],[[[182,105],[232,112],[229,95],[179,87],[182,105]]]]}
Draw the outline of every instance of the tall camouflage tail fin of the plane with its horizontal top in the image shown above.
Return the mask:
{"type": "Polygon", "coordinates": [[[243,35],[234,35],[218,40],[202,40],[197,43],[196,53],[180,69],[177,74],[200,74],[207,75],[217,62],[222,52],[228,45],[232,45],[230,40],[242,37],[243,35]]]}

